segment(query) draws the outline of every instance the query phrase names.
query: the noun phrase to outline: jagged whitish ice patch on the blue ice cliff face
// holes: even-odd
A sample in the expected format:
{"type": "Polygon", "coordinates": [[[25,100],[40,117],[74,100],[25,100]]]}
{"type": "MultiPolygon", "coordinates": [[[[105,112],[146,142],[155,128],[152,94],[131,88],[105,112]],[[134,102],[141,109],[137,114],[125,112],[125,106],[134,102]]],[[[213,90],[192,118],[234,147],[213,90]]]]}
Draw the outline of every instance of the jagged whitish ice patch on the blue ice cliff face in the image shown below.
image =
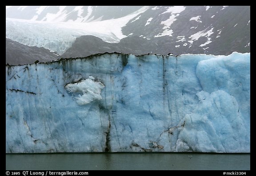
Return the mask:
{"type": "Polygon", "coordinates": [[[86,105],[94,100],[101,100],[100,95],[101,90],[104,88],[102,82],[94,81],[92,76],[89,76],[88,79],[82,80],[76,83],[70,83],[65,86],[69,92],[81,93],[76,98],[76,103],[79,105],[86,105]]]}

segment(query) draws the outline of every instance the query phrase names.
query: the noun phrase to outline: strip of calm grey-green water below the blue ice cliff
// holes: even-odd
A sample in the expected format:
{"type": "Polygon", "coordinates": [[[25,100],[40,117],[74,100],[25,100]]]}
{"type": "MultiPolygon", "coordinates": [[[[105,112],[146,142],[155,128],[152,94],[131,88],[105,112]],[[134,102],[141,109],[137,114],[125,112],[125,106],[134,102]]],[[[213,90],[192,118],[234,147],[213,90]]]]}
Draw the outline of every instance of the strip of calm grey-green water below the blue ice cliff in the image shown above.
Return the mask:
{"type": "Polygon", "coordinates": [[[6,154],[6,170],[250,170],[250,153],[6,154]]]}

